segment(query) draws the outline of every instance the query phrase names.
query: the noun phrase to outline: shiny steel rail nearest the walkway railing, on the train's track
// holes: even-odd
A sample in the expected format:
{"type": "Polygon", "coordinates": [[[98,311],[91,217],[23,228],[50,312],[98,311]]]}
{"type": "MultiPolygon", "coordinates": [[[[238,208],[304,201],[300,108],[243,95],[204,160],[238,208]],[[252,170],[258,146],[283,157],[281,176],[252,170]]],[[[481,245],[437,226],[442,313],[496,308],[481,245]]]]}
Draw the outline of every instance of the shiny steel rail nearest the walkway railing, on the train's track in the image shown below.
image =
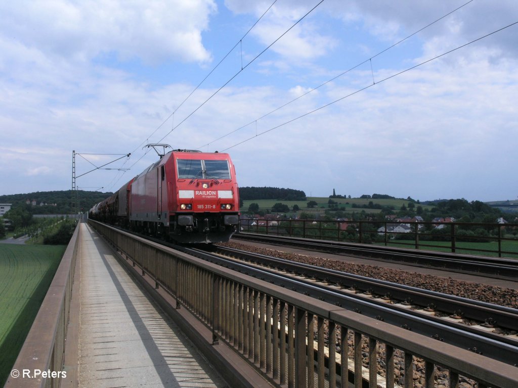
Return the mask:
{"type": "Polygon", "coordinates": [[[228,260],[204,250],[175,245],[171,245],[171,247],[197,258],[221,265],[229,270],[268,281],[276,286],[334,304],[347,310],[359,312],[364,316],[403,327],[414,333],[435,338],[458,348],[482,354],[502,363],[516,365],[518,344],[512,345],[503,342],[499,339],[500,336],[498,336],[498,339],[495,339],[494,336],[487,336],[486,333],[467,332],[465,327],[459,329],[443,321],[435,321],[430,320],[429,317],[423,318],[422,316],[416,316],[411,314],[408,310],[400,311],[390,308],[383,302],[358,299],[344,292],[324,288],[311,284],[308,281],[279,275],[262,268],[237,263],[234,260],[228,260]]]}

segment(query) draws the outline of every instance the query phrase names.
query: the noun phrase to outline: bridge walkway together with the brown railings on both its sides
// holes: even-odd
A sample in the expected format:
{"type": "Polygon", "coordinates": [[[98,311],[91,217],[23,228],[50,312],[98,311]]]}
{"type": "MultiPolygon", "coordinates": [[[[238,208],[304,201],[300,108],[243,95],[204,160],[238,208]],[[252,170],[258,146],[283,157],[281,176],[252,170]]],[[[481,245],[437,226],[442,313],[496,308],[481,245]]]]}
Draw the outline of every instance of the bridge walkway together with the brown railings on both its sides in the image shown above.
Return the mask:
{"type": "Polygon", "coordinates": [[[406,388],[518,386],[516,366],[80,222],[5,386],[394,387],[397,360],[406,388]]]}

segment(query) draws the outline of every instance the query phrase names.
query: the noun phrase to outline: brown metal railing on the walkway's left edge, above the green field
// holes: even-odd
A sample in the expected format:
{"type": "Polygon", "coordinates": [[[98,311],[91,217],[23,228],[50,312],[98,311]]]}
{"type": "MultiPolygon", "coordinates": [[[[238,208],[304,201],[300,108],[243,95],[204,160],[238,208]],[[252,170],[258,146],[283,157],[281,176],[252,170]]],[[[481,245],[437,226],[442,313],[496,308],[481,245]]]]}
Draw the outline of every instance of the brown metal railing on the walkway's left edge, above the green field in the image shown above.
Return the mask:
{"type": "Polygon", "coordinates": [[[5,388],[57,387],[66,377],[64,352],[79,229],[78,223],[5,388]]]}

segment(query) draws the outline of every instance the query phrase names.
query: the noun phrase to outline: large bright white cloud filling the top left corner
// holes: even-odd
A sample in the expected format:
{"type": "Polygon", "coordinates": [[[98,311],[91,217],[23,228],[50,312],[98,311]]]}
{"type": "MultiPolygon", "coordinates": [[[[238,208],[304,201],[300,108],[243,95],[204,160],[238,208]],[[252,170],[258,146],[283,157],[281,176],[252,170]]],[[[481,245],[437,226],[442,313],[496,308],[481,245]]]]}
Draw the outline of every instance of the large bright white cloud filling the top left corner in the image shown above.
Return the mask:
{"type": "Polygon", "coordinates": [[[201,33],[216,11],[212,0],[3,2],[0,30],[47,55],[88,61],[115,53],[156,64],[166,59],[207,62],[201,33]]]}

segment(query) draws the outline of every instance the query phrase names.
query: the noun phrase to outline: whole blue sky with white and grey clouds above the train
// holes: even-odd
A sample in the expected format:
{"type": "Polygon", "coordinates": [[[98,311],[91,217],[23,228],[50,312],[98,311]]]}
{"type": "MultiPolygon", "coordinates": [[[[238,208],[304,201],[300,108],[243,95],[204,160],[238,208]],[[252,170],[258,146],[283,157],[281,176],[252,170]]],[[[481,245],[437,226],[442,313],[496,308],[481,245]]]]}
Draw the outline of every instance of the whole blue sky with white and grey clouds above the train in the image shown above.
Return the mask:
{"type": "Polygon", "coordinates": [[[0,2],[0,195],[69,189],[73,151],[114,191],[167,143],[240,186],[516,199],[518,2],[319,1],[0,2]]]}

